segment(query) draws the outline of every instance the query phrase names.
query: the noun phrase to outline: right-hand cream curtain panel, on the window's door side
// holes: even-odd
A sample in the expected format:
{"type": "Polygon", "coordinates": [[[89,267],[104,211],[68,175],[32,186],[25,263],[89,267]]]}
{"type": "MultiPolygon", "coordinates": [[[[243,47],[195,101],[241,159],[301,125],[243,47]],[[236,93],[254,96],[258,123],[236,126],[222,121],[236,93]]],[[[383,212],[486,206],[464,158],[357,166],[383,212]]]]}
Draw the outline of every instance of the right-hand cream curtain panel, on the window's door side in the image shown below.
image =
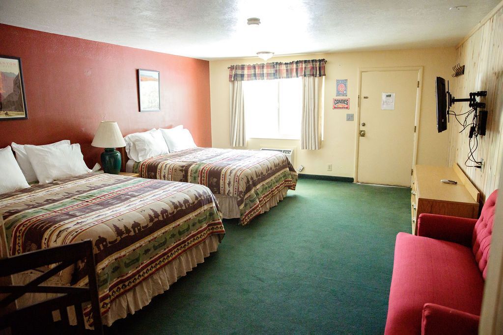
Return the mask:
{"type": "Polygon", "coordinates": [[[320,102],[323,77],[302,77],[302,125],[300,149],[321,149],[320,102]]]}

